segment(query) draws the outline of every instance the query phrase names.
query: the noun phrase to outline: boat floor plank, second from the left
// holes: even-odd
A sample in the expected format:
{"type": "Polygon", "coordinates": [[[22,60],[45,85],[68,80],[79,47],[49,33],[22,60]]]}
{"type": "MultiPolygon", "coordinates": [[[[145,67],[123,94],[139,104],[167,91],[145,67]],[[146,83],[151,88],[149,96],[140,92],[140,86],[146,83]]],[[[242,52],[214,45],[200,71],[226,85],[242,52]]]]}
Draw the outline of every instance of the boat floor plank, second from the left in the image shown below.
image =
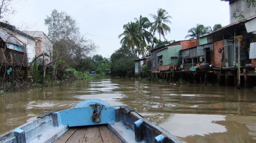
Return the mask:
{"type": "Polygon", "coordinates": [[[78,128],[66,141],[66,143],[82,143],[86,128],[78,128]]]}

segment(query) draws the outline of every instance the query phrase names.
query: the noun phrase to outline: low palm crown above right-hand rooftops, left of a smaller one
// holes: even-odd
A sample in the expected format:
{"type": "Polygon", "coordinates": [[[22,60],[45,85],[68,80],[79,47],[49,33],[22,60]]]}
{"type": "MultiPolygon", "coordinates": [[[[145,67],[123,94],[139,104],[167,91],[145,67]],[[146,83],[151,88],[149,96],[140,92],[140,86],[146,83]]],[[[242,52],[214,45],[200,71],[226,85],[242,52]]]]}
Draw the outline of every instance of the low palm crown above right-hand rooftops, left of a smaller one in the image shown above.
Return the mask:
{"type": "Polygon", "coordinates": [[[211,32],[210,26],[204,27],[204,25],[202,25],[202,24],[197,24],[197,27],[193,27],[187,31],[187,33],[189,33],[189,34],[187,34],[185,36],[185,39],[186,38],[189,38],[189,39],[199,38],[201,36],[209,34],[210,32],[211,32]]]}

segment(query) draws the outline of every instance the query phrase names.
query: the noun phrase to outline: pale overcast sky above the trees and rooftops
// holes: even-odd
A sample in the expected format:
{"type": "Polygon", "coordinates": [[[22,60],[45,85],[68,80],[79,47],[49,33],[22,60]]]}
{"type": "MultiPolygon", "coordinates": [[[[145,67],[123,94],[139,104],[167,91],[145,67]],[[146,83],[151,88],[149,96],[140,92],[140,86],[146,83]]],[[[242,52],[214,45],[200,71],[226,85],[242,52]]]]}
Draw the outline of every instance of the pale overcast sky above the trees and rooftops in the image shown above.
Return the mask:
{"type": "MultiPolygon", "coordinates": [[[[72,16],[82,34],[99,45],[95,54],[109,57],[120,45],[118,35],[122,26],[142,16],[152,18],[158,8],[165,9],[170,16],[171,33],[167,40],[184,40],[187,30],[196,24],[213,27],[229,24],[228,2],[220,0],[14,0],[16,13],[9,18],[12,25],[29,31],[44,31],[46,15],[53,9],[72,16]],[[91,34],[91,35],[90,35],[91,34]]],[[[158,34],[156,34],[156,37],[158,34]]],[[[161,38],[162,39],[162,38],[161,38]]]]}

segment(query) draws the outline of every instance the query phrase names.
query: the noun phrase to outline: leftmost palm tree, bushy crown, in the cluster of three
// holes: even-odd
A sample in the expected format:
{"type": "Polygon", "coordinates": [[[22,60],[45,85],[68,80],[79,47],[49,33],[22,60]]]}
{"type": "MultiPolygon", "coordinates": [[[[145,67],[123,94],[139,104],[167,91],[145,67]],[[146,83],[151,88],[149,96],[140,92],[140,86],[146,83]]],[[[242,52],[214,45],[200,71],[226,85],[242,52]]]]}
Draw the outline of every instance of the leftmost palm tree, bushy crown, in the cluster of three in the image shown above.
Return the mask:
{"type": "Polygon", "coordinates": [[[139,47],[139,44],[141,43],[141,35],[139,34],[139,25],[134,22],[128,22],[128,24],[124,24],[123,26],[124,32],[119,34],[118,38],[121,38],[124,36],[120,44],[122,44],[122,47],[132,49],[132,52],[135,56],[135,46],[139,47]]]}

